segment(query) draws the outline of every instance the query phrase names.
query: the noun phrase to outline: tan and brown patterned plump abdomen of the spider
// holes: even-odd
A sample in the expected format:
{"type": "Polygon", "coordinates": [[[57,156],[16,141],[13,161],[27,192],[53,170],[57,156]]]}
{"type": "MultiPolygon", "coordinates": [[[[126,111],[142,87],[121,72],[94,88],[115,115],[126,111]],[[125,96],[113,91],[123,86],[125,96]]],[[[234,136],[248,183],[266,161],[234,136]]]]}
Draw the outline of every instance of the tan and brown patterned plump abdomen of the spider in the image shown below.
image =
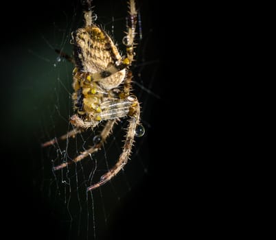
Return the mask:
{"type": "Polygon", "coordinates": [[[124,81],[126,69],[118,71],[122,56],[100,27],[87,26],[73,33],[74,57],[79,71],[97,74],[97,82],[109,90],[124,81]]]}

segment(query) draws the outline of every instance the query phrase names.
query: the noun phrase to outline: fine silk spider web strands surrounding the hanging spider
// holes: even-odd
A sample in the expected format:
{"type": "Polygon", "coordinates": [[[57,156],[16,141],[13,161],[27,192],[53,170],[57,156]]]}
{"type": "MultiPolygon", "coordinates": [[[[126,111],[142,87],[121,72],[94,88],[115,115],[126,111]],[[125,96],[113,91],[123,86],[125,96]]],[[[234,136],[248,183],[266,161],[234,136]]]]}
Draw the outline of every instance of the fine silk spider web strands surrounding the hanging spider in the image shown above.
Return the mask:
{"type": "MultiPolygon", "coordinates": [[[[94,1],[96,23],[100,24],[115,40],[124,54],[122,38],[126,29],[126,1],[94,1]]],[[[133,64],[133,93],[141,102],[141,123],[146,133],[135,139],[133,154],[128,164],[113,180],[95,191],[87,192],[92,183],[100,180],[110,167],[113,167],[122,152],[127,119],[121,119],[102,149],[76,165],[69,165],[59,171],[51,169],[60,163],[78,156],[93,145],[93,136],[100,133],[102,127],[82,132],[75,138],[60,141],[54,146],[41,149],[41,161],[34,164],[36,169],[36,187],[51,206],[52,215],[60,221],[60,230],[65,239],[107,239],[112,232],[112,224],[117,215],[124,214],[122,208],[126,197],[131,195],[148,174],[148,139],[152,128],[150,110],[159,100],[156,86],[159,71],[159,59],[154,56],[152,29],[148,4],[138,4],[141,14],[137,38],[137,61],[133,64]],[[141,39],[139,39],[141,38],[141,39]],[[153,53],[152,53],[153,52],[153,53]]],[[[61,136],[72,130],[68,119],[73,115],[71,108],[71,73],[73,64],[59,58],[54,49],[71,54],[69,44],[71,32],[82,26],[82,10],[78,3],[67,6],[67,10],[56,16],[57,20],[41,33],[39,45],[29,49],[32,58],[41,61],[44,73],[39,74],[38,98],[43,106],[39,114],[41,143],[61,136]],[[70,9],[69,9],[70,7],[70,9]],[[41,46],[45,51],[41,50],[41,46]],[[43,85],[43,86],[42,86],[43,85]]],[[[37,105],[38,105],[37,104],[37,105]]]]}

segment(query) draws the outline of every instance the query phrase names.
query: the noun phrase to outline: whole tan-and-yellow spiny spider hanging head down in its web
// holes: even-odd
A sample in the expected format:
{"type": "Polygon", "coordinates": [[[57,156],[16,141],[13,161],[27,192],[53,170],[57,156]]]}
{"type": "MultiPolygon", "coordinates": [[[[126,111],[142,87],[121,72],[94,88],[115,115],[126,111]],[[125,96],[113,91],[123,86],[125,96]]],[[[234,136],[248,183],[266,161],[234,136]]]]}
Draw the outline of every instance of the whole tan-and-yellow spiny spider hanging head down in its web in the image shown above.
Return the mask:
{"type": "Polygon", "coordinates": [[[111,37],[93,22],[91,2],[87,0],[84,3],[84,27],[72,33],[73,58],[58,51],[61,56],[75,64],[72,84],[75,115],[69,119],[73,130],[58,139],[55,138],[42,144],[43,147],[54,145],[60,140],[76,136],[82,131],[93,130],[100,123],[105,123],[100,135],[94,137],[93,147],[73,160],[54,167],[57,171],[97,152],[111,134],[116,121],[128,117],[126,139],[119,160],[98,182],[88,187],[87,191],[97,189],[119,173],[128,163],[135,136],[142,136],[144,133],[143,125],[140,123],[139,101],[135,95],[130,93],[133,77],[130,65],[135,56],[137,23],[135,0],[128,1],[127,32],[123,38],[126,56],[120,55],[111,37]]]}

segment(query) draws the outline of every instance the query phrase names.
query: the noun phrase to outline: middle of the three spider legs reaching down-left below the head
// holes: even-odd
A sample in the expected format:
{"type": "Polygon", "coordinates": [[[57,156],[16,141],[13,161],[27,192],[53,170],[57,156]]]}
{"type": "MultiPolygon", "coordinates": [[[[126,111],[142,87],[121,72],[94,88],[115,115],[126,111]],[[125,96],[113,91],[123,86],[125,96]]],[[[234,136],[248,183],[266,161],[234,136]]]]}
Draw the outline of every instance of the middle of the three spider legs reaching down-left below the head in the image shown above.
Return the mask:
{"type": "Polygon", "coordinates": [[[78,163],[80,160],[82,160],[83,158],[86,158],[87,156],[89,156],[90,154],[93,154],[94,152],[97,152],[101,147],[102,144],[106,141],[106,138],[109,136],[109,134],[111,134],[112,129],[113,129],[113,125],[115,124],[116,119],[112,119],[107,121],[106,125],[104,126],[104,129],[102,130],[100,136],[101,136],[101,140],[99,143],[93,145],[93,147],[87,149],[86,151],[82,152],[80,155],[76,156],[76,158],[74,158],[72,161],[67,162],[67,163],[62,163],[56,167],[54,167],[54,171],[62,169],[64,167],[67,167],[68,165],[72,164],[72,163],[78,163]]]}

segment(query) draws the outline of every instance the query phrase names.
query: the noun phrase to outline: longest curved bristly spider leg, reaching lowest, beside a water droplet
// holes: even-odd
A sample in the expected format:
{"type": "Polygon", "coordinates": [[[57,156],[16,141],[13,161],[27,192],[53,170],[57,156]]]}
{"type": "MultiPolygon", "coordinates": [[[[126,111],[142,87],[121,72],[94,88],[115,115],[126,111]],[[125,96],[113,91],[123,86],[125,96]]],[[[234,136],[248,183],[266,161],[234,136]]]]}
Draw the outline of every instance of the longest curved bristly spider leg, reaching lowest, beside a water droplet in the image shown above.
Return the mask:
{"type": "MultiPolygon", "coordinates": [[[[137,125],[139,125],[139,116],[140,116],[140,107],[139,102],[135,101],[135,104],[133,104],[133,114],[130,117],[129,125],[128,125],[128,132],[126,134],[126,141],[124,142],[123,152],[119,156],[118,162],[115,164],[115,166],[110,169],[107,173],[105,173],[101,178],[100,181],[93,184],[91,187],[87,188],[87,191],[91,191],[93,189],[97,189],[98,187],[102,186],[111,178],[113,178],[121,169],[128,163],[128,158],[131,154],[131,148],[133,146],[134,137],[135,137],[135,130],[137,125]]],[[[130,112],[132,112],[130,110],[130,112]]]]}

